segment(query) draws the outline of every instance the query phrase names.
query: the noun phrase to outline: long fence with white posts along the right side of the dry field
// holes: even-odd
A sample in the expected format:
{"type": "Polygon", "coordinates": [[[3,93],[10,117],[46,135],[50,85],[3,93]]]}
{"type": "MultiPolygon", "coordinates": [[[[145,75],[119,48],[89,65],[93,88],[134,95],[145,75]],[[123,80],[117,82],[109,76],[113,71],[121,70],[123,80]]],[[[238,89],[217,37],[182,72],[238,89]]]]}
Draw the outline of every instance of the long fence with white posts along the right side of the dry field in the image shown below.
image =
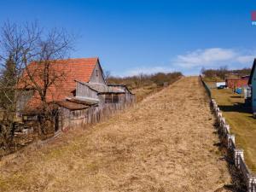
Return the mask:
{"type": "MultiPolygon", "coordinates": [[[[211,90],[207,87],[207,84],[201,79],[200,80],[207,90],[208,96],[211,98],[211,90]]],[[[243,149],[236,147],[235,135],[230,134],[230,125],[228,125],[223,117],[223,114],[218,108],[217,102],[211,99],[211,107],[217,118],[219,135],[222,142],[228,148],[230,154],[232,154],[233,160],[235,162],[236,170],[241,173],[242,179],[247,186],[248,192],[256,192],[256,175],[249,170],[244,160],[243,149]]]]}

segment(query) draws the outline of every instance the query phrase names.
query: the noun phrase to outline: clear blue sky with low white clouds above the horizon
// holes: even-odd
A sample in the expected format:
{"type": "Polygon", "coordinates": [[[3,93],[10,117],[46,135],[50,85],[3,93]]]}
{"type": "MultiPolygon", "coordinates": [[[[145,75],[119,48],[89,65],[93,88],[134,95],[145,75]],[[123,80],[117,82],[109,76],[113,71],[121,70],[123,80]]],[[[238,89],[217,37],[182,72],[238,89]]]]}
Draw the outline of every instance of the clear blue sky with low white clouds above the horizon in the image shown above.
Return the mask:
{"type": "Polygon", "coordinates": [[[1,1],[0,25],[38,20],[77,34],[72,57],[99,56],[113,75],[251,67],[254,0],[1,1]]]}

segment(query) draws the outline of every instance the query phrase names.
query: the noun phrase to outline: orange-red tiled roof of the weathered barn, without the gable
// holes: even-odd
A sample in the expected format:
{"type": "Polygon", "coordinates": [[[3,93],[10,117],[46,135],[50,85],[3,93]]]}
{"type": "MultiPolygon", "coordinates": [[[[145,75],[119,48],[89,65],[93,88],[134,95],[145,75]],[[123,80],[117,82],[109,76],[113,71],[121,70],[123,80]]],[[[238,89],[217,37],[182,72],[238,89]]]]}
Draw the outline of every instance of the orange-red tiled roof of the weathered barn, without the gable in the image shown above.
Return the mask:
{"type": "MultiPolygon", "coordinates": [[[[96,67],[96,63],[98,58],[83,58],[83,59],[67,59],[67,60],[58,60],[53,61],[54,63],[50,65],[52,67],[50,75],[55,76],[55,74],[60,75],[61,73],[64,75],[64,78],[55,80],[55,84],[52,84],[49,87],[46,100],[47,102],[56,102],[62,101],[67,96],[73,96],[73,91],[76,89],[75,80],[79,80],[82,82],[89,82],[91,74],[96,67]]],[[[37,62],[33,62],[28,66],[30,73],[33,73],[33,76],[39,86],[43,86],[43,77],[42,77],[42,69],[44,67],[40,67],[37,62]]],[[[27,73],[24,71],[23,77],[26,79],[27,73]]],[[[20,82],[18,87],[20,89],[24,89],[26,87],[30,87],[30,81],[26,80],[26,84],[20,82]],[[28,82],[28,83],[27,83],[28,82]]],[[[41,100],[38,93],[36,93],[32,99],[29,101],[28,105],[33,107],[38,107],[40,105],[41,100]]]]}

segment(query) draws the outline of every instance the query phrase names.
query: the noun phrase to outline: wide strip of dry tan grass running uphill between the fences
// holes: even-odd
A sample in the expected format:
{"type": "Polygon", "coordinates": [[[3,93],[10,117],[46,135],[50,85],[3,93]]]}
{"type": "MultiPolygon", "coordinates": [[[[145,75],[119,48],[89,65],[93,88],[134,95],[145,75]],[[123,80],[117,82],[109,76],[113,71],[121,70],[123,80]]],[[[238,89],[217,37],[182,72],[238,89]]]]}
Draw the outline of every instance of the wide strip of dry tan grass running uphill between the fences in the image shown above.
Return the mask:
{"type": "Polygon", "coordinates": [[[224,191],[213,117],[196,77],[0,168],[0,191],[224,191]]]}

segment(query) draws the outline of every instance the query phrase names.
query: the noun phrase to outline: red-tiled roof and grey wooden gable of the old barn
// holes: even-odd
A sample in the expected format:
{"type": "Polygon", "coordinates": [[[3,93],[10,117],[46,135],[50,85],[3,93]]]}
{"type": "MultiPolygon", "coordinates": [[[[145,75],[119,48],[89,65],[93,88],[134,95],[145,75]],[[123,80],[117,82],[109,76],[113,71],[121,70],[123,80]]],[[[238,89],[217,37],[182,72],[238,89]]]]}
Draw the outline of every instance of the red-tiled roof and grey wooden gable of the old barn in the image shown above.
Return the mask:
{"type": "MultiPolygon", "coordinates": [[[[75,96],[76,80],[86,83],[106,84],[98,58],[58,60],[52,61],[49,66],[51,67],[49,75],[59,78],[55,79],[53,84],[49,86],[46,94],[47,102],[60,102],[67,97],[75,96]]],[[[24,70],[18,88],[20,90],[33,90],[35,84],[44,86],[44,73],[42,73],[44,67],[40,66],[38,62],[32,62],[27,68],[28,71],[24,70]],[[32,83],[28,78],[28,73],[33,76],[32,79],[36,83],[32,83]]],[[[32,98],[26,102],[26,106],[29,108],[38,108],[41,104],[41,98],[37,91],[34,91],[32,98]]]]}

